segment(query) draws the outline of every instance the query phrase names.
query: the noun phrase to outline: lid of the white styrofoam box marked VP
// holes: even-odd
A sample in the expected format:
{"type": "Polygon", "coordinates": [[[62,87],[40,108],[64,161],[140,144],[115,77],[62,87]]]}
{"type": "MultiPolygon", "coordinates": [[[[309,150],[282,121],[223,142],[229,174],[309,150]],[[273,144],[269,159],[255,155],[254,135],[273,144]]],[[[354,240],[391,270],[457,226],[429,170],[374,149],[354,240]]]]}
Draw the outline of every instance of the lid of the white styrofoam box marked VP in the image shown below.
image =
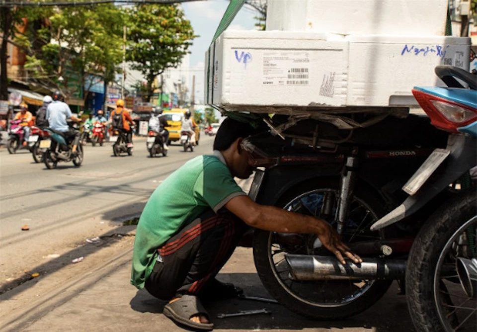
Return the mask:
{"type": "Polygon", "coordinates": [[[226,30],[219,38],[223,39],[306,39],[306,40],[345,40],[345,36],[334,33],[318,33],[306,31],[257,31],[226,30]]]}

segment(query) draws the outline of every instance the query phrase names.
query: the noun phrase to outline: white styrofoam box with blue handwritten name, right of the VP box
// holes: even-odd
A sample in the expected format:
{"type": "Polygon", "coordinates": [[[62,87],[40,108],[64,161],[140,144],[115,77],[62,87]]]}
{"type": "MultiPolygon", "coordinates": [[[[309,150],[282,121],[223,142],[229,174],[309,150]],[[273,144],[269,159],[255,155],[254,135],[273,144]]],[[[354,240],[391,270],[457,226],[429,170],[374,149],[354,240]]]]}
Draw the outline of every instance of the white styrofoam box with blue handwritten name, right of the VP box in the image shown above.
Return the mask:
{"type": "Polygon", "coordinates": [[[348,105],[412,105],[413,86],[443,84],[436,66],[469,71],[470,38],[349,35],[346,40],[348,105]]]}

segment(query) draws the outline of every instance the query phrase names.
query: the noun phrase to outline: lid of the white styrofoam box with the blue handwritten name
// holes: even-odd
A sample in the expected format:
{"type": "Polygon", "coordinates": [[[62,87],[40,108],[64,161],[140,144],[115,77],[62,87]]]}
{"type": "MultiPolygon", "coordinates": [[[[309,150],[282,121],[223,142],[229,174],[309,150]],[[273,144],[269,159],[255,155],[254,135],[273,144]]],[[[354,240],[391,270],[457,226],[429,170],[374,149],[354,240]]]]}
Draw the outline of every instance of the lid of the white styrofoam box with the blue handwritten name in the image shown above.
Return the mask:
{"type": "Polygon", "coordinates": [[[351,43],[471,45],[470,38],[453,36],[347,35],[345,40],[351,43]]]}

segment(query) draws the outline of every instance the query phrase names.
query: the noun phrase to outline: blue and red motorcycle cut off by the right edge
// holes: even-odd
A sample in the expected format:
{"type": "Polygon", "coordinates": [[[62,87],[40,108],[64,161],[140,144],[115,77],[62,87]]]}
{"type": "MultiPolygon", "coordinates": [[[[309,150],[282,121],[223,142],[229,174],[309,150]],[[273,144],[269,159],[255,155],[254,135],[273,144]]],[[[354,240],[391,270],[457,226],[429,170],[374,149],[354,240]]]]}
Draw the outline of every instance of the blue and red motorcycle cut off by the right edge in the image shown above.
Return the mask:
{"type": "Polygon", "coordinates": [[[409,314],[419,332],[475,331],[477,202],[469,170],[477,160],[477,77],[451,66],[435,72],[448,87],[412,92],[432,124],[449,133],[447,146],[434,150],[403,186],[406,200],[372,229],[392,226],[426,205],[437,207],[427,214],[409,253],[409,314]]]}

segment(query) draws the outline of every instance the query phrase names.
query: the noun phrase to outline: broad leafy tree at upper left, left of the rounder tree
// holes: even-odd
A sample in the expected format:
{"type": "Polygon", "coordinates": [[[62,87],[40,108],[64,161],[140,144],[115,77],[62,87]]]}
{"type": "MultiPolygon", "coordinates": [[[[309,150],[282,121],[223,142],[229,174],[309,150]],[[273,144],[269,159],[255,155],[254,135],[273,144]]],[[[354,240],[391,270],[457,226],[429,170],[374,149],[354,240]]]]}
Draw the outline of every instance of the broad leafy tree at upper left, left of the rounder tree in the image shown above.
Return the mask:
{"type": "MultiPolygon", "coordinates": [[[[31,77],[56,86],[68,96],[91,87],[91,76],[111,81],[122,61],[123,12],[113,4],[30,10],[31,22],[48,24],[19,36],[27,49],[31,77]],[[39,40],[40,48],[34,40],[39,40]],[[88,86],[89,85],[89,86],[88,86]]],[[[38,43],[37,43],[38,45],[38,43]]],[[[86,95],[84,95],[84,98],[86,95]]]]}

